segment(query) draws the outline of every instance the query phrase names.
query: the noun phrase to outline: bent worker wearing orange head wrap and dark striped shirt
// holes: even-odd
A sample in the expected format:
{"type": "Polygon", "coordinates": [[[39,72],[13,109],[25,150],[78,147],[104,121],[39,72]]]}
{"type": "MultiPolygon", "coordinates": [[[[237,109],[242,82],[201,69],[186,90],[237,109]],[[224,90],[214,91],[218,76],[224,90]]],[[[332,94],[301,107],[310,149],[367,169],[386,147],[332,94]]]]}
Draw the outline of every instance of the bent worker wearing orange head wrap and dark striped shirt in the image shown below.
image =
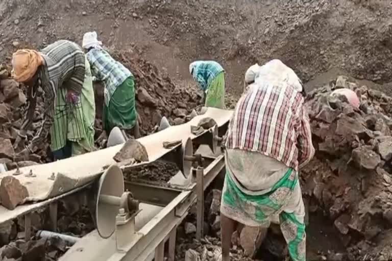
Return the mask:
{"type": "Polygon", "coordinates": [[[34,120],[37,95],[43,91],[43,120],[37,135],[20,154],[36,152],[51,134],[56,160],[94,149],[95,103],[91,72],[83,49],[59,40],[40,51],[20,49],[12,56],[13,78],[28,86],[29,108],[14,147],[34,120]]]}

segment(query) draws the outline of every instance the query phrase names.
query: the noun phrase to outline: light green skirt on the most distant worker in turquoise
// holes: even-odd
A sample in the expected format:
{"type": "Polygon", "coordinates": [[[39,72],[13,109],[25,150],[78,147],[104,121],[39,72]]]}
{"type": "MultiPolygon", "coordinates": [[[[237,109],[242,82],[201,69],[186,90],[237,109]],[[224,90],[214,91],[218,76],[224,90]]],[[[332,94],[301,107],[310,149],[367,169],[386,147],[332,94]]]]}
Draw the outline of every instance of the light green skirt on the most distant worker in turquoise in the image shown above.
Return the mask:
{"type": "Polygon", "coordinates": [[[220,72],[207,87],[205,107],[225,109],[225,72],[220,72]]]}

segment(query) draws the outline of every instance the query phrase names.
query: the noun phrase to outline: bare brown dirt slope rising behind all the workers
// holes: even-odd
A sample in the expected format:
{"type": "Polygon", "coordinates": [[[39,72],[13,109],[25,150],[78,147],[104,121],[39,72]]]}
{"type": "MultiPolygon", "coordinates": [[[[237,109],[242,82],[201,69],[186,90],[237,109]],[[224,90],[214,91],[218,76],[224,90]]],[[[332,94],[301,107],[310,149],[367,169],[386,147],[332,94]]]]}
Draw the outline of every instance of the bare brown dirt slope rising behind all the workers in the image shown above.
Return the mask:
{"type": "Polygon", "coordinates": [[[386,0],[4,0],[0,55],[10,56],[15,42],[18,47],[43,47],[58,39],[80,43],[83,33],[96,30],[116,49],[134,42],[175,80],[190,79],[191,60],[215,59],[227,71],[227,89],[237,95],[247,67],[272,58],[292,67],[303,82],[339,68],[358,79],[388,83],[389,5],[386,0]]]}

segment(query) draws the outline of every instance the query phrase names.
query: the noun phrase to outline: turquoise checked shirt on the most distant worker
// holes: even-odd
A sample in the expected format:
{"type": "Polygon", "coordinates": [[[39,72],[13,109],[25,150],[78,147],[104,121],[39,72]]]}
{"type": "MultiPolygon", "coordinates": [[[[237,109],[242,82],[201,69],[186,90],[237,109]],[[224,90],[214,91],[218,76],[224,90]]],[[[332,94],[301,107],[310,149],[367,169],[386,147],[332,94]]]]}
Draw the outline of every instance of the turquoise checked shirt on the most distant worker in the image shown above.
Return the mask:
{"type": "Polygon", "coordinates": [[[197,61],[193,62],[193,79],[199,83],[203,91],[207,91],[215,77],[223,72],[223,67],[215,61],[197,61]]]}

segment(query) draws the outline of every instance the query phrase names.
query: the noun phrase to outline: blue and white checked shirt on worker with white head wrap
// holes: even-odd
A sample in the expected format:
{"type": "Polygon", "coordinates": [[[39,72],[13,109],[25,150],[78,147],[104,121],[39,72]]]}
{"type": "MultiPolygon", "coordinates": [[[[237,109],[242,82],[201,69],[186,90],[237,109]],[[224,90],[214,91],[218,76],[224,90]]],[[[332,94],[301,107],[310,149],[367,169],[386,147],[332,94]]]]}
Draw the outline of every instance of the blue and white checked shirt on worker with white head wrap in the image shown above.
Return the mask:
{"type": "Polygon", "coordinates": [[[87,60],[91,66],[92,75],[99,81],[104,82],[105,104],[109,106],[113,93],[132,73],[121,63],[115,61],[107,51],[100,48],[92,48],[87,53],[87,60]]]}

